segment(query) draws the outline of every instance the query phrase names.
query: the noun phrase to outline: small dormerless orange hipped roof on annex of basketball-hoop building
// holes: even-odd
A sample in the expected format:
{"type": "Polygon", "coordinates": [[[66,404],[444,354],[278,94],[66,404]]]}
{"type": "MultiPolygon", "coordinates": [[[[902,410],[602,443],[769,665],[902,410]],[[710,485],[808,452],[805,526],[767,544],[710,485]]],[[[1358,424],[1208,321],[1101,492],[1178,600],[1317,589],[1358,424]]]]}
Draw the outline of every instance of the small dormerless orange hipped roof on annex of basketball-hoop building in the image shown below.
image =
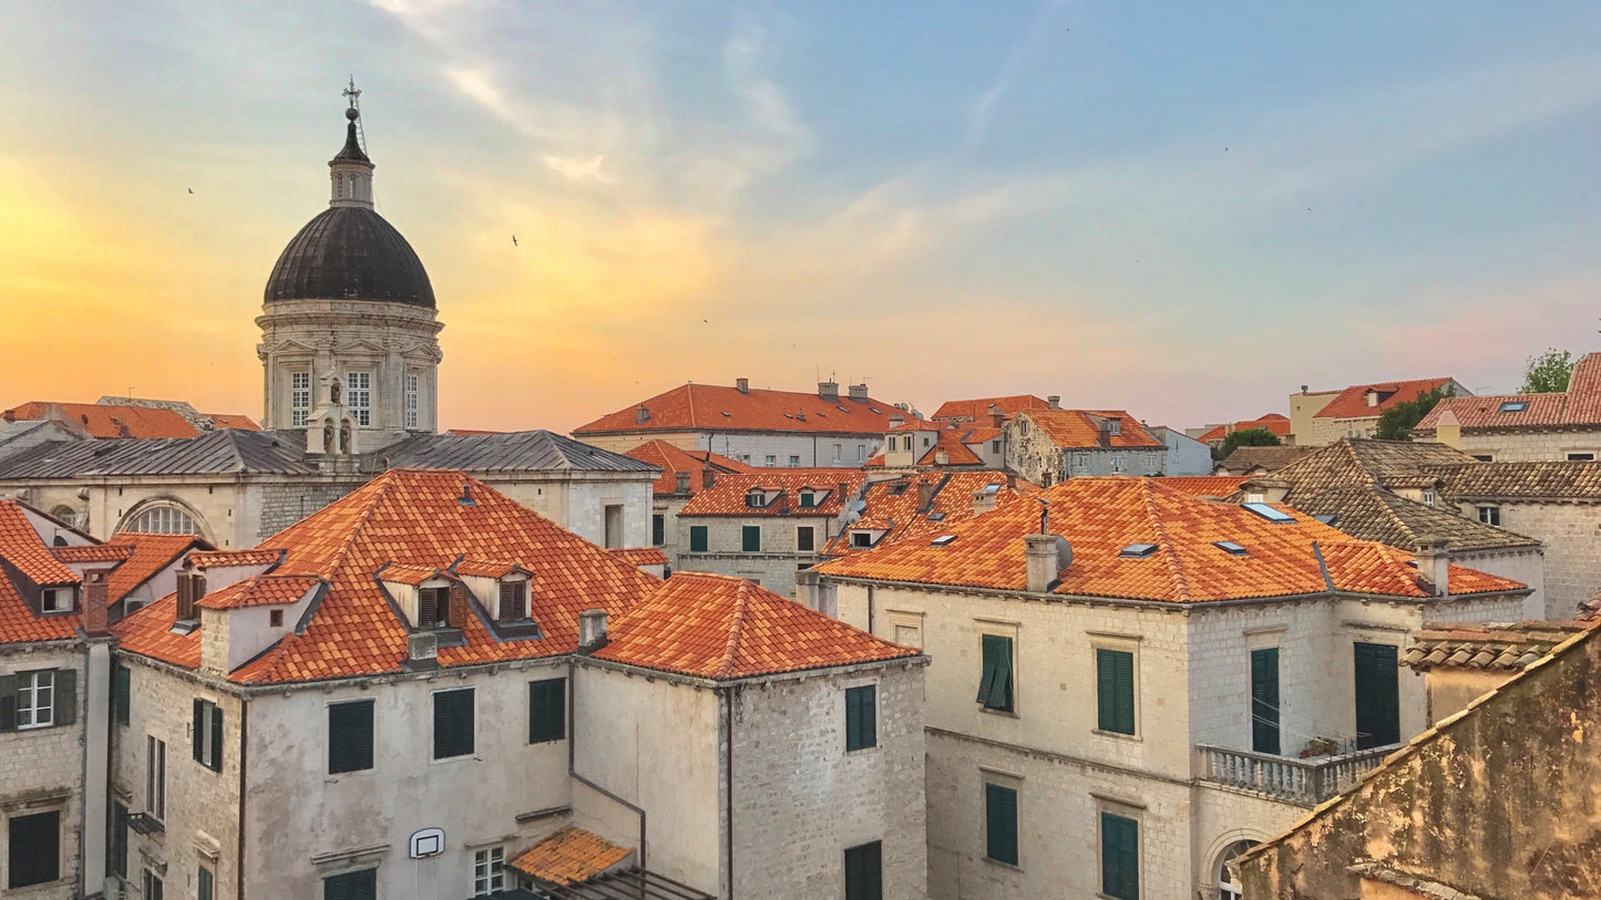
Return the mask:
{"type": "Polygon", "coordinates": [[[607,636],[594,659],[714,679],[917,655],[744,579],[706,572],[660,582],[607,636]]]}

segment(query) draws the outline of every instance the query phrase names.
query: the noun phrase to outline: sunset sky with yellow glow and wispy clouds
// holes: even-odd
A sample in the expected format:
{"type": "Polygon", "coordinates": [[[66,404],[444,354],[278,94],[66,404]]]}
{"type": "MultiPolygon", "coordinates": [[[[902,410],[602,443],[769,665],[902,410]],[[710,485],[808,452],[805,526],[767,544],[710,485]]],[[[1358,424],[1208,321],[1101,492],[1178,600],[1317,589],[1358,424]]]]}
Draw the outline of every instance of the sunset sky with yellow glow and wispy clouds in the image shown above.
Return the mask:
{"type": "Polygon", "coordinates": [[[685,380],[1191,427],[1601,350],[1601,5],[56,2],[0,11],[0,408],[261,414],[362,88],[440,425],[685,380]],[[517,245],[512,245],[512,235],[517,245]]]}

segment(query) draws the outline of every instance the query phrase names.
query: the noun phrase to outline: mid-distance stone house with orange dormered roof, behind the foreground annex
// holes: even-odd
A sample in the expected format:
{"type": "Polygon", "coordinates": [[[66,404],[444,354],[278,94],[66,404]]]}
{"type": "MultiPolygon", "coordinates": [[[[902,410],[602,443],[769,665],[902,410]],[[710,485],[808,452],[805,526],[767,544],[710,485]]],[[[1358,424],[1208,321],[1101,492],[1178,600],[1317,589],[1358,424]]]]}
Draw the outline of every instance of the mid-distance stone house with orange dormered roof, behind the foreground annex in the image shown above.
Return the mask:
{"type": "Polygon", "coordinates": [[[720,572],[792,595],[796,572],[860,513],[860,468],[764,470],[719,476],[677,516],[676,571],[720,572]]]}

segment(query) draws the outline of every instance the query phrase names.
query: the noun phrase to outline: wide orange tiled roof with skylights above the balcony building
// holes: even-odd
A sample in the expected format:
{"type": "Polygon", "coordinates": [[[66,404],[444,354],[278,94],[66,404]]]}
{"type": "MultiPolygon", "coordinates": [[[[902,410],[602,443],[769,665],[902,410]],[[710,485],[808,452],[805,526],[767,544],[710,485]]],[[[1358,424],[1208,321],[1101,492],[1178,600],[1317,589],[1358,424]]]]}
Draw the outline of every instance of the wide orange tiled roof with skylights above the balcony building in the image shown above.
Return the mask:
{"type": "MultiPolygon", "coordinates": [[[[1199,603],[1327,593],[1335,590],[1422,598],[1412,556],[1393,547],[1353,540],[1282,508],[1292,523],[1274,524],[1250,510],[1164,486],[1166,478],[1069,478],[1044,491],[1050,531],[1073,547],[1058,595],[1199,603]],[[1215,542],[1234,542],[1234,556],[1215,542]],[[1143,558],[1121,556],[1153,544],[1143,558]],[[1314,550],[1316,545],[1316,550],[1314,550]],[[1324,580],[1318,556],[1327,564],[1324,580]]],[[[825,575],[917,583],[1023,590],[1023,536],[1039,529],[1034,504],[1012,504],[956,523],[946,547],[901,542],[817,566],[825,575]]],[[[1510,579],[1451,567],[1452,595],[1523,590],[1510,579]]]]}

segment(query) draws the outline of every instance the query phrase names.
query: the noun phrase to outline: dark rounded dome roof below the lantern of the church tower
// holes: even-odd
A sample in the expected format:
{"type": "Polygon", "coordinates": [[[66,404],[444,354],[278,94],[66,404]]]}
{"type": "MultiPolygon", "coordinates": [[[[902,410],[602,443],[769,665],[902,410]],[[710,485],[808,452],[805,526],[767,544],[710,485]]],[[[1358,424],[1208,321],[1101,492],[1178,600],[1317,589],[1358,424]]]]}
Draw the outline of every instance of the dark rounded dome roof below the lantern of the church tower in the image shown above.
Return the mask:
{"type": "Polygon", "coordinates": [[[365,206],[331,206],[283,248],[272,301],[389,301],[434,309],[434,286],[411,245],[365,206]]]}

